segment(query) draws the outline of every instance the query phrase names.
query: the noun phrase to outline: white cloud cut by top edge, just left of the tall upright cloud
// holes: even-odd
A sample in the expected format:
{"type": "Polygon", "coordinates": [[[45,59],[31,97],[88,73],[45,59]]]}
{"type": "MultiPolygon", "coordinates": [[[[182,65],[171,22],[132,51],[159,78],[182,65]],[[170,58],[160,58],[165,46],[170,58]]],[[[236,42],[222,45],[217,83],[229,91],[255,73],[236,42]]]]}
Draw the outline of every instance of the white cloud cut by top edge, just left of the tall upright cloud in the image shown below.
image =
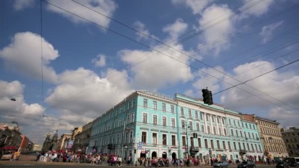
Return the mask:
{"type": "Polygon", "coordinates": [[[193,14],[201,14],[206,6],[213,0],[172,0],[173,4],[185,4],[192,9],[193,14]]]}

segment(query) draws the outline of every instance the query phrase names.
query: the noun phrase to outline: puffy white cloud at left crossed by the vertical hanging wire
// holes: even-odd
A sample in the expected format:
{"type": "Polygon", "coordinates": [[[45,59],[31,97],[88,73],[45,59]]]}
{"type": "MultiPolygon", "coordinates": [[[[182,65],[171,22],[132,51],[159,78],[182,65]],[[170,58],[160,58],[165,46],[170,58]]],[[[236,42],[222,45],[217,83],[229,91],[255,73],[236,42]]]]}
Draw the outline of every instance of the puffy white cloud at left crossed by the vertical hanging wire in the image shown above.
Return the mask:
{"type": "MultiPolygon", "coordinates": [[[[55,60],[59,54],[54,47],[43,41],[43,75],[48,82],[56,83],[57,75],[50,61],[55,60]]],[[[16,33],[11,43],[0,50],[0,58],[9,70],[24,74],[28,77],[41,79],[41,51],[40,36],[32,32],[16,33]]]]}

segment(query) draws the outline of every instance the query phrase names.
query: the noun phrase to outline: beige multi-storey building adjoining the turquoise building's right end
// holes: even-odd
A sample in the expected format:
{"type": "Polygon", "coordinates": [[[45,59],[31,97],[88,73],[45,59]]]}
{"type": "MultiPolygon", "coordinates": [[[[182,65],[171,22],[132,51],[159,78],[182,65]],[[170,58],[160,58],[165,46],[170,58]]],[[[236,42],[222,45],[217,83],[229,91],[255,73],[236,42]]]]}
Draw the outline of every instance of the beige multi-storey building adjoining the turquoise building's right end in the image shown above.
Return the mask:
{"type": "Polygon", "coordinates": [[[256,116],[254,114],[242,114],[244,119],[257,123],[261,135],[265,155],[268,158],[287,157],[288,152],[282,139],[278,122],[256,116]]]}

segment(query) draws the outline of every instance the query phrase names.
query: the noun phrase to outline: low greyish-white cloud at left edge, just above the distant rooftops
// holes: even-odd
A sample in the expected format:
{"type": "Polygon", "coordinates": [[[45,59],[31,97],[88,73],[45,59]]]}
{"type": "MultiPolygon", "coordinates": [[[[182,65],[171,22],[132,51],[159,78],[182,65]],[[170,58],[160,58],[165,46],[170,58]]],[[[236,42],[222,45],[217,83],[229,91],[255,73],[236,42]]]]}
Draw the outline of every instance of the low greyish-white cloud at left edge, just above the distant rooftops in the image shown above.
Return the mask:
{"type": "Polygon", "coordinates": [[[41,135],[57,128],[57,120],[42,117],[45,109],[39,104],[26,103],[23,96],[24,88],[25,85],[19,81],[0,81],[0,118],[4,122],[18,122],[22,133],[31,141],[40,143],[41,135]],[[11,101],[11,98],[15,98],[16,101],[11,101]]]}

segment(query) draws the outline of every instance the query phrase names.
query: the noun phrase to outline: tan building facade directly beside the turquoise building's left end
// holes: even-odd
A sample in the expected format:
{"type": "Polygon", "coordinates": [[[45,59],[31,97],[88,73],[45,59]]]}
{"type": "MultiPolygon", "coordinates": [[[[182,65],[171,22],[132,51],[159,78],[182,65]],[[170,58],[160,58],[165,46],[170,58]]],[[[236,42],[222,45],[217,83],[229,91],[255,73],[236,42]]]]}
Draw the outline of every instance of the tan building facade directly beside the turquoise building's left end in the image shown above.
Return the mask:
{"type": "Polygon", "coordinates": [[[90,132],[93,122],[89,122],[83,126],[82,132],[75,136],[74,151],[85,153],[89,146],[90,132]]]}

